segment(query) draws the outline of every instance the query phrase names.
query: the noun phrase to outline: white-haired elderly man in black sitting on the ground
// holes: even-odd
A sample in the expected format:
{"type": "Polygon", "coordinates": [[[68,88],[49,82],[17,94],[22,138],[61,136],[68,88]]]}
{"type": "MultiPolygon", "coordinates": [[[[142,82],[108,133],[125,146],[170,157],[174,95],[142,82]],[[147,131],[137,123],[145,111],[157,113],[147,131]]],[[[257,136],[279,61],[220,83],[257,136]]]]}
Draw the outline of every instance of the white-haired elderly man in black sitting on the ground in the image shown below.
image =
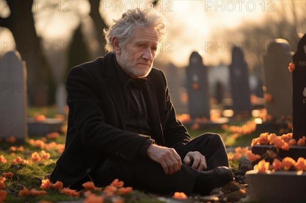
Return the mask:
{"type": "Polygon", "coordinates": [[[152,68],[164,17],[134,9],[105,30],[105,57],[71,69],[66,146],[50,179],[82,189],[118,178],[150,192],[208,194],[233,180],[221,137],[191,140],[164,73],[152,68]]]}

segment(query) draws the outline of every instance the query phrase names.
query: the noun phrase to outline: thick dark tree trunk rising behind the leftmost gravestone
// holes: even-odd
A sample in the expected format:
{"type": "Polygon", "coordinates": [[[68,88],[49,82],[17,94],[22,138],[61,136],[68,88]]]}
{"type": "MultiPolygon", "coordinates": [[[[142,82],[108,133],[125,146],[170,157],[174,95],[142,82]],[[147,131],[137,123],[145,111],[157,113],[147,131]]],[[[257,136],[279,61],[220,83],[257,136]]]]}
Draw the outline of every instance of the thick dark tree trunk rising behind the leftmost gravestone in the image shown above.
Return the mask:
{"type": "Polygon", "coordinates": [[[34,26],[33,1],[7,1],[11,10],[8,18],[0,19],[0,26],[10,29],[16,42],[16,50],[27,64],[29,104],[45,106],[54,86],[44,60],[42,45],[34,26]]]}

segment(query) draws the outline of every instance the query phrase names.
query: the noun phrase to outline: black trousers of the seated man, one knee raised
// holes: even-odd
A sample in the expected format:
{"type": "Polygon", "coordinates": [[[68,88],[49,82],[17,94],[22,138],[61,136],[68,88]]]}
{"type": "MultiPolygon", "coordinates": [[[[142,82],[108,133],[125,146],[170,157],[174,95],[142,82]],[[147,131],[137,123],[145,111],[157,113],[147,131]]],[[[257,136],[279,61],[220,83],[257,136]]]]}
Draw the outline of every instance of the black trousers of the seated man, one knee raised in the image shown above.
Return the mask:
{"type": "MultiPolygon", "coordinates": [[[[218,166],[228,166],[226,149],[218,134],[202,134],[177,152],[182,161],[188,152],[198,151],[206,157],[208,170],[218,166]]],[[[165,175],[162,166],[149,158],[139,158],[127,162],[111,157],[96,170],[93,180],[99,186],[109,185],[114,179],[124,182],[124,186],[147,192],[170,194],[171,192],[192,193],[197,177],[197,170],[182,164],[180,171],[173,175],[165,175]]]]}

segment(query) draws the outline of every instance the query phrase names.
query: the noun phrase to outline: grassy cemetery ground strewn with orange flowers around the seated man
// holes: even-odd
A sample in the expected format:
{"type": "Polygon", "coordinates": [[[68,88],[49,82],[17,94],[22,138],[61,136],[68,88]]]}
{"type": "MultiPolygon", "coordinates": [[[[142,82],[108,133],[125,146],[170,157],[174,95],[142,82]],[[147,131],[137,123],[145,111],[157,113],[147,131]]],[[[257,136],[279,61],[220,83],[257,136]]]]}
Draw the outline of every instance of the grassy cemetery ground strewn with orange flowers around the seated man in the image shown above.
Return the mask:
{"type": "MultiPolygon", "coordinates": [[[[55,107],[30,107],[28,108],[28,117],[33,117],[35,114],[44,114],[48,118],[54,118],[56,117],[55,112],[55,107]]],[[[242,127],[241,124],[251,119],[233,119],[232,125],[239,124],[242,127]]],[[[62,132],[65,132],[65,125],[63,126],[62,132]]],[[[193,138],[205,132],[205,130],[196,128],[190,128],[188,131],[193,138]]],[[[56,189],[55,183],[42,184],[42,181],[48,179],[48,175],[54,169],[56,160],[64,149],[66,138],[65,133],[51,133],[46,136],[31,135],[23,143],[15,142],[13,137],[1,140],[0,154],[3,157],[0,157],[0,175],[6,176],[6,178],[0,179],[0,182],[4,183],[0,189],[5,187],[7,195],[0,193],[0,202],[103,202],[103,200],[104,202],[238,202],[248,192],[244,173],[252,169],[251,161],[245,158],[245,154],[250,149],[248,146],[250,146],[252,139],[259,137],[259,133],[253,131],[243,134],[224,131],[220,128],[209,129],[208,131],[219,133],[222,136],[228,149],[230,167],[233,169],[237,181],[213,190],[211,195],[191,195],[189,197],[179,193],[156,195],[131,190],[131,188],[125,188],[124,185],[122,187],[120,182],[114,183],[115,187],[109,186],[106,188],[94,188],[88,185],[87,188],[91,189],[93,194],[84,191],[80,193],[60,191],[56,189]],[[240,159],[240,157],[242,158],[240,159]],[[4,159],[7,160],[6,163],[4,163],[4,159]],[[12,177],[10,177],[9,172],[13,173],[12,177]],[[49,188],[47,187],[48,184],[49,188]],[[25,188],[35,190],[27,191],[25,188]],[[40,194],[39,191],[45,192],[40,194]],[[28,193],[32,195],[27,195],[28,193]],[[95,194],[98,194],[98,196],[95,194]],[[99,194],[104,194],[103,198],[99,194]]],[[[279,131],[279,129],[275,129],[275,133],[278,134],[276,131],[279,131]]],[[[281,129],[281,131],[284,131],[284,129],[281,129]]]]}

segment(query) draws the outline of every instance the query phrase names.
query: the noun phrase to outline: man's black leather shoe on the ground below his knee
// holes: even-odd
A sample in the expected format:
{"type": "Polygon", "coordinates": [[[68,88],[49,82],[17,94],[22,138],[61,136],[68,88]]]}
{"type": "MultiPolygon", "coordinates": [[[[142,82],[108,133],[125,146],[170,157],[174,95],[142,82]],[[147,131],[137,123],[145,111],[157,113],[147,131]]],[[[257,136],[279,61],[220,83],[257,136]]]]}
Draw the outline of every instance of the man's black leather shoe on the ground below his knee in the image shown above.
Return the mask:
{"type": "Polygon", "coordinates": [[[219,166],[213,170],[198,171],[197,179],[193,187],[194,193],[208,195],[210,191],[217,187],[222,187],[234,180],[231,168],[219,166]]]}

